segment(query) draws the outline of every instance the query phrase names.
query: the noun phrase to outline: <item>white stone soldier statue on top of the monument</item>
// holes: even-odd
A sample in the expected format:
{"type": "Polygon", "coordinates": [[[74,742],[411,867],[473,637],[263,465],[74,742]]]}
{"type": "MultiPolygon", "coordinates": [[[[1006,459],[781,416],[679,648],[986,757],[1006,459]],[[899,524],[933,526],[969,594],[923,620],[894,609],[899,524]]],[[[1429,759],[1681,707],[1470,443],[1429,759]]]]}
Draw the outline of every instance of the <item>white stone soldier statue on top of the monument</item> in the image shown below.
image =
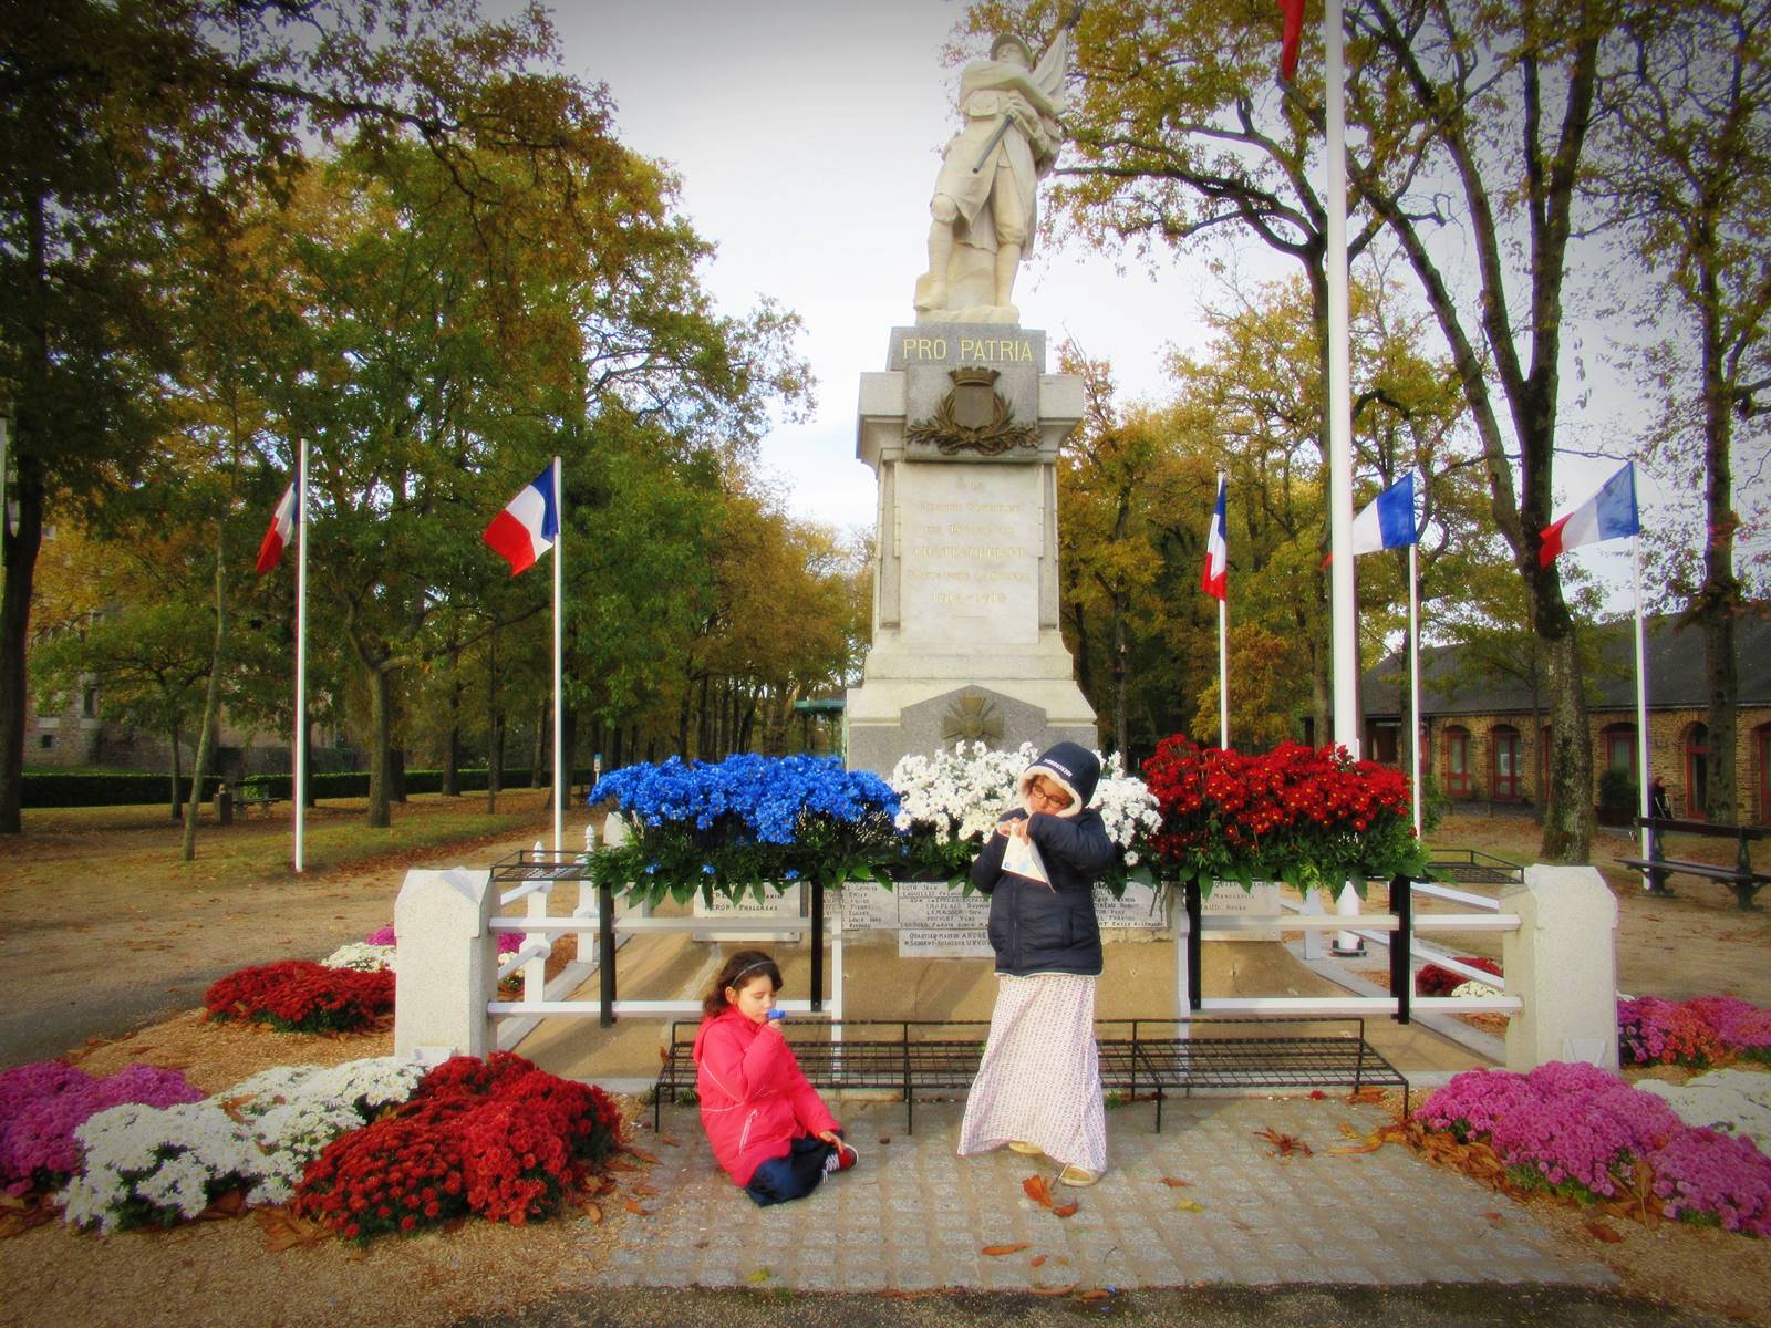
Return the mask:
{"type": "Polygon", "coordinates": [[[1057,161],[1068,25],[1038,66],[1015,35],[960,74],[965,126],[953,136],[928,204],[928,271],[916,282],[917,322],[1020,322],[1011,303],[1038,227],[1040,179],[1057,161]]]}

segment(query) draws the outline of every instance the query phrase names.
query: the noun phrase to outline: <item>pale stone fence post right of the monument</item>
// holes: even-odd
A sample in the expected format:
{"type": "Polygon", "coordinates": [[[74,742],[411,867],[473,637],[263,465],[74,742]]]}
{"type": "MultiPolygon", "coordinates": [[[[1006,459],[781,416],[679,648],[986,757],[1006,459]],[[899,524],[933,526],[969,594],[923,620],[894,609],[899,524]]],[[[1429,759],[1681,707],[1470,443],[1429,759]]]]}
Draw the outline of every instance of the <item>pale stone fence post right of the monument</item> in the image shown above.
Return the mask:
{"type": "Polygon", "coordinates": [[[1617,1069],[1617,899],[1596,868],[1532,864],[1500,892],[1520,930],[1500,937],[1507,995],[1507,1069],[1585,1061],[1617,1069]]]}

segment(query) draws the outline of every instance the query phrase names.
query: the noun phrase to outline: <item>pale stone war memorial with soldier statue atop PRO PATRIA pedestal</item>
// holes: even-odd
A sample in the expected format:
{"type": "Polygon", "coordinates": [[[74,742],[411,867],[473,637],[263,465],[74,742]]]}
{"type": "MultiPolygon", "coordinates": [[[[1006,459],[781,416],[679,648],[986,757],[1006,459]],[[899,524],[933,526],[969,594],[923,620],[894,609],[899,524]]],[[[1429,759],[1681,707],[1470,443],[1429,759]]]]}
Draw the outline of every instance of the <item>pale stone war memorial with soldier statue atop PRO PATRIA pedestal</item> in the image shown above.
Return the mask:
{"type": "Polygon", "coordinates": [[[1004,35],[962,73],[916,324],[861,375],[855,455],[878,478],[878,528],[871,648],[847,699],[854,768],[960,740],[1098,740],[1057,620],[1057,450],[1082,379],[1045,372],[1045,333],[1013,305],[1066,58],[1068,34],[1038,62],[1004,35]]]}

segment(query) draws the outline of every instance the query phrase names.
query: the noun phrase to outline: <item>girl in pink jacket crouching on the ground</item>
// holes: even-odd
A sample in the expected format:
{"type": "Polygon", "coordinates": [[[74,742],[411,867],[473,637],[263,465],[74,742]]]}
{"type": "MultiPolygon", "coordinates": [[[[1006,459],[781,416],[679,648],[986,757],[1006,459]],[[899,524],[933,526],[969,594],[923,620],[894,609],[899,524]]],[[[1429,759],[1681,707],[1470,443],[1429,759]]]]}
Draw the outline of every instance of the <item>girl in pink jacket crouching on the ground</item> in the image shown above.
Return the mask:
{"type": "Polygon", "coordinates": [[[770,1018],[781,970],[760,949],[726,960],[694,1036],[701,1128],[714,1158],[760,1206],[802,1199],[859,1154],[806,1082],[770,1018]]]}

